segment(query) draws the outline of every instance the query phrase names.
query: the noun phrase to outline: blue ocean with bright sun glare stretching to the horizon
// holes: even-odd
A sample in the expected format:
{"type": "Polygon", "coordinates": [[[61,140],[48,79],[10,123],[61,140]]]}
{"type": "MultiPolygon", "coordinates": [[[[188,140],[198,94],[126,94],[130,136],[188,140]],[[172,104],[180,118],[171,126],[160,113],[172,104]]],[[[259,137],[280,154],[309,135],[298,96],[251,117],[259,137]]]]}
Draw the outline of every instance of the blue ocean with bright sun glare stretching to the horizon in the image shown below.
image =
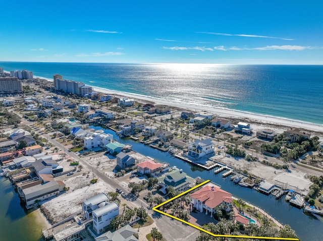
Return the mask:
{"type": "Polygon", "coordinates": [[[5,70],[154,97],[323,124],[323,65],[0,62],[5,70]]]}

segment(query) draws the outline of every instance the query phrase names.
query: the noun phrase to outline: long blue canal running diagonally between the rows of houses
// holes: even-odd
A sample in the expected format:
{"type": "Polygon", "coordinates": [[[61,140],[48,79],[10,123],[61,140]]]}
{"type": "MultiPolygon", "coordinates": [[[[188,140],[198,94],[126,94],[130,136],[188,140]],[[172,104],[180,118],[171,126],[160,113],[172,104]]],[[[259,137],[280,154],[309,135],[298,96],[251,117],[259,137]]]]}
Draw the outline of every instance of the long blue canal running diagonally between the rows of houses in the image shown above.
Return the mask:
{"type": "MultiPolygon", "coordinates": [[[[101,127],[90,126],[90,128],[101,129],[101,127]]],[[[265,210],[272,217],[277,219],[282,224],[289,224],[301,240],[322,240],[323,236],[323,218],[320,216],[307,215],[302,209],[290,206],[285,202],[284,198],[276,200],[275,197],[266,196],[253,189],[244,188],[230,181],[230,176],[226,179],[222,178],[222,173],[214,175],[213,171],[205,171],[190,165],[178,158],[173,157],[168,152],[162,152],[151,148],[149,145],[144,145],[130,138],[119,138],[116,133],[110,129],[105,129],[105,133],[113,134],[120,143],[129,143],[133,150],[154,158],[157,162],[167,162],[172,166],[176,166],[193,178],[201,177],[204,180],[211,180],[219,185],[222,189],[233,194],[237,198],[251,203],[265,210]]],[[[237,161],[238,162],[238,161],[237,161]]],[[[258,164],[261,165],[261,164],[258,164]]]]}

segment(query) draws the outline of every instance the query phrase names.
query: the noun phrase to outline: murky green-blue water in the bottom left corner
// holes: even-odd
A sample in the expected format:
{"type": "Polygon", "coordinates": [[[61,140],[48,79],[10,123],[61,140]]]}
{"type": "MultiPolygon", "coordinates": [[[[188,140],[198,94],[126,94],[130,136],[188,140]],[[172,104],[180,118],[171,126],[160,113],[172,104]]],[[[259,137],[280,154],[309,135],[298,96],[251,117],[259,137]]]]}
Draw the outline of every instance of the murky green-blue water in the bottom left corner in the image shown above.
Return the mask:
{"type": "Polygon", "coordinates": [[[25,211],[10,180],[0,177],[0,240],[35,241],[43,226],[36,211],[25,211]]]}

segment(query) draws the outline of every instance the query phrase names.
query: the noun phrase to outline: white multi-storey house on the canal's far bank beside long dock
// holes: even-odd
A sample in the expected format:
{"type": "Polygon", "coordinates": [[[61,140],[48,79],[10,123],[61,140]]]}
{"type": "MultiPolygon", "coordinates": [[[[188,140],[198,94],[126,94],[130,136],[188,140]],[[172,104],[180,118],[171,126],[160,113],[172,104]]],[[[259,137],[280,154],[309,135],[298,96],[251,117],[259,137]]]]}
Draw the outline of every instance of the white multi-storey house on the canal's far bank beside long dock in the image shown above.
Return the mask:
{"type": "Polygon", "coordinates": [[[188,144],[188,155],[190,156],[199,158],[209,153],[214,153],[212,139],[210,138],[205,140],[196,139],[188,144]]]}

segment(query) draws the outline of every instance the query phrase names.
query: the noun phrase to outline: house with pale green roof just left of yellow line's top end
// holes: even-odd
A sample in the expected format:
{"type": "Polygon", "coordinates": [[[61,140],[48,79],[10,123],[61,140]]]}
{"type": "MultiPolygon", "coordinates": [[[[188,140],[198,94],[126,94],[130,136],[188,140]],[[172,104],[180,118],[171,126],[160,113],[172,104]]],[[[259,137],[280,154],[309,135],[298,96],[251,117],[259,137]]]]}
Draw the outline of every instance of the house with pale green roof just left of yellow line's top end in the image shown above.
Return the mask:
{"type": "Polygon", "coordinates": [[[187,176],[183,170],[173,170],[159,178],[158,184],[161,186],[160,192],[166,194],[166,189],[172,186],[175,191],[186,191],[193,185],[194,179],[187,176]]]}

